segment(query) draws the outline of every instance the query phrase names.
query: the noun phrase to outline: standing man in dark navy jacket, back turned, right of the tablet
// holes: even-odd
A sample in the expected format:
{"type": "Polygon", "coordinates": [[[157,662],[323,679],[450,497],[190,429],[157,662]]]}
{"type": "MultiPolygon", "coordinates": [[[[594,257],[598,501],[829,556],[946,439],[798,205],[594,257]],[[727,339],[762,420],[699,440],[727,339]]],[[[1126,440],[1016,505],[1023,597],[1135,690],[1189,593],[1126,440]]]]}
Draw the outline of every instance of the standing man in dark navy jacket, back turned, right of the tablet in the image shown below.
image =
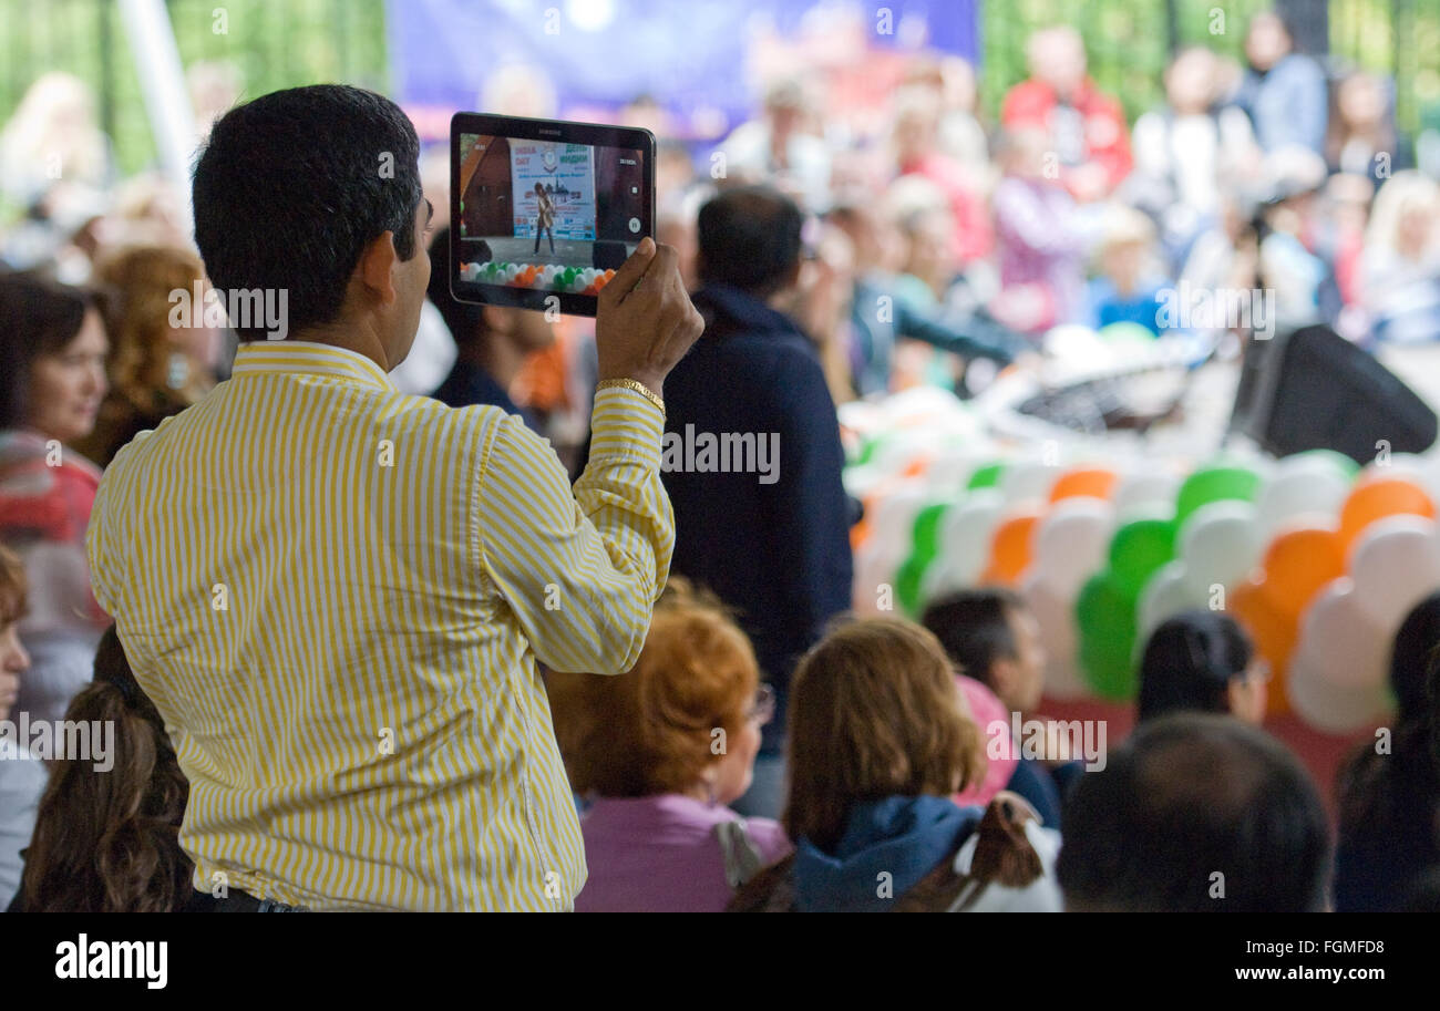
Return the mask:
{"type": "Polygon", "coordinates": [[[776,691],[755,785],[736,806],[778,815],[791,670],[851,605],[850,516],[835,403],[815,346],[776,305],[801,272],[801,210],[769,187],[700,210],[691,297],[706,333],[665,385],[661,472],[672,570],[739,611],[776,691]]]}

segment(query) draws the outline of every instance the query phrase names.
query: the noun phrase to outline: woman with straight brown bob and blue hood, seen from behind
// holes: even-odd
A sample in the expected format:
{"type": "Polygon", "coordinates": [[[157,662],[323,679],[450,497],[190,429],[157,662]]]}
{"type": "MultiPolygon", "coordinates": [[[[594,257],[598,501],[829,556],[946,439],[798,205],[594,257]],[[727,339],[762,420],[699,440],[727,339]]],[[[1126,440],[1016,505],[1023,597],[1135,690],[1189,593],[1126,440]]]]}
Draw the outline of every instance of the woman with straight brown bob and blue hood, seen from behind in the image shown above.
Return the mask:
{"type": "Polygon", "coordinates": [[[1002,792],[950,795],[985,770],[984,739],[929,631],[867,618],[835,628],[791,683],[795,854],[732,912],[1054,910],[1058,835],[1002,792]]]}

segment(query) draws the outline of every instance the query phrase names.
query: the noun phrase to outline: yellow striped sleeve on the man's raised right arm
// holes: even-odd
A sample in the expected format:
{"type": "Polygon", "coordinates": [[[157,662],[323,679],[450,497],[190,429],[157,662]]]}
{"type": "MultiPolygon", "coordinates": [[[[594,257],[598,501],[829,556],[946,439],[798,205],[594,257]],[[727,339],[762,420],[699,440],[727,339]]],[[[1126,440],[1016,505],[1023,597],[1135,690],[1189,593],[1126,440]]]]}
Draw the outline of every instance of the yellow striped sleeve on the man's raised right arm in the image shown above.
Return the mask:
{"type": "Polygon", "coordinates": [[[590,461],[572,488],[550,445],[508,416],[480,494],[481,563],[552,670],[635,665],[670,575],[675,520],[660,480],[661,410],[603,389],[590,461]]]}

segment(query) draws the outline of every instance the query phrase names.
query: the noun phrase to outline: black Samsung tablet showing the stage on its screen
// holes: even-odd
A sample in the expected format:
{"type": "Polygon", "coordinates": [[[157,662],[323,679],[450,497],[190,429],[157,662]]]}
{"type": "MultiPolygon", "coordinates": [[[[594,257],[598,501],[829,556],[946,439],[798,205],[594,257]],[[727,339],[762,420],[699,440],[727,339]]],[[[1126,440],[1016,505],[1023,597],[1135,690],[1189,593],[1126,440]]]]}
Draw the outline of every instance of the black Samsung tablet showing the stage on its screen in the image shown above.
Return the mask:
{"type": "Polygon", "coordinates": [[[451,120],[455,298],[595,315],[615,269],[655,233],[655,135],[563,120],[451,120]]]}

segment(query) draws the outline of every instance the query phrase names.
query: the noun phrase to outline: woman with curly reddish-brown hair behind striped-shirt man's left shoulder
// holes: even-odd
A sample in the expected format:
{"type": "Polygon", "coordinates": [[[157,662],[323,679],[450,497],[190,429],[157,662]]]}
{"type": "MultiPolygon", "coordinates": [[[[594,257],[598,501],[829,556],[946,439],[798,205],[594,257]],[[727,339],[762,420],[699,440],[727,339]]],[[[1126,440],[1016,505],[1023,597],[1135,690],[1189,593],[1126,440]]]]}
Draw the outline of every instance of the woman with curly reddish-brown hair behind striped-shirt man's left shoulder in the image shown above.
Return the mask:
{"type": "Polygon", "coordinates": [[[94,282],[108,295],[109,395],[95,431],[75,448],[104,468],[138,432],[157,428],[215,386],[220,334],[215,313],[206,324],[204,265],[189,249],[118,249],[96,264],[94,282]]]}

